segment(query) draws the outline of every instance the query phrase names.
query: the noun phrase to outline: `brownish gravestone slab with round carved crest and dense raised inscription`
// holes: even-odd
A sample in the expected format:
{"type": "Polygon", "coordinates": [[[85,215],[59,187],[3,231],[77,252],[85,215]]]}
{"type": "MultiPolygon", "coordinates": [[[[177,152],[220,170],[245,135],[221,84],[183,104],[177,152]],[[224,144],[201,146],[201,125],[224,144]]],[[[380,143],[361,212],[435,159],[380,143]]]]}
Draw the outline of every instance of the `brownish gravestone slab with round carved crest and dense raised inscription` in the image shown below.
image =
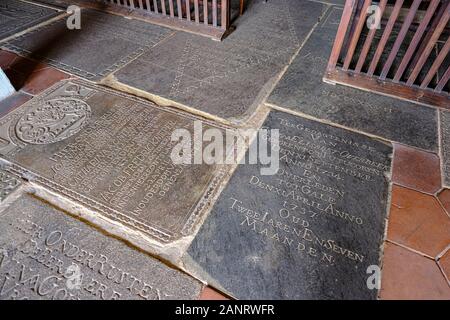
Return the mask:
{"type": "Polygon", "coordinates": [[[172,162],[173,130],[197,120],[62,81],[0,119],[0,155],[18,175],[164,244],[191,232],[225,170],[172,162]]]}

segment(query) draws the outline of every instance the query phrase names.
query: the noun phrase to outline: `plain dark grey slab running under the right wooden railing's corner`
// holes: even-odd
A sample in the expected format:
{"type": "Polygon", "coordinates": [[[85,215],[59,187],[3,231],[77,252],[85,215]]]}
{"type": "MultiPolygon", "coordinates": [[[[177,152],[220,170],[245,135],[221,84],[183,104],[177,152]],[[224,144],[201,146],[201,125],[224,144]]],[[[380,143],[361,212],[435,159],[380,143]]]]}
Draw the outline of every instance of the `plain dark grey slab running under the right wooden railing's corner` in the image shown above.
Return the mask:
{"type": "Polygon", "coordinates": [[[334,7],[268,98],[301,112],[406,145],[437,151],[434,109],[322,81],[342,10],[334,7]]]}

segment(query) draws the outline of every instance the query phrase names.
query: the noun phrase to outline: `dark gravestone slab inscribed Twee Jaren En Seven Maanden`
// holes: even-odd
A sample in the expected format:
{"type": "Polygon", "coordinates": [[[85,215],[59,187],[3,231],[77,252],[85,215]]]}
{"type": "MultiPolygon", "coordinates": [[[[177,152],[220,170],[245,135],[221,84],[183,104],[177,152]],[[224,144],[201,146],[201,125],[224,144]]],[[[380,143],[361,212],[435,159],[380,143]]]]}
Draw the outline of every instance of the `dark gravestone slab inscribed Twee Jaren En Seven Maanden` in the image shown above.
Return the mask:
{"type": "Polygon", "coordinates": [[[263,127],[279,129],[278,172],[239,165],[187,270],[238,299],[375,299],[392,147],[279,111],[263,127]]]}

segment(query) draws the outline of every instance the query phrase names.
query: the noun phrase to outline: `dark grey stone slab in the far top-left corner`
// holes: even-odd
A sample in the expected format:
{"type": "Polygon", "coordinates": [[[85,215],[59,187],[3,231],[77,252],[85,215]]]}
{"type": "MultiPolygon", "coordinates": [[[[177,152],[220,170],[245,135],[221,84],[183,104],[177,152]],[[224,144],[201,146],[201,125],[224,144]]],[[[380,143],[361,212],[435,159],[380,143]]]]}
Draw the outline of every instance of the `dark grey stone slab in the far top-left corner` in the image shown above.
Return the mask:
{"type": "Polygon", "coordinates": [[[0,40],[24,31],[58,14],[58,11],[18,0],[0,3],[0,40]]]}

